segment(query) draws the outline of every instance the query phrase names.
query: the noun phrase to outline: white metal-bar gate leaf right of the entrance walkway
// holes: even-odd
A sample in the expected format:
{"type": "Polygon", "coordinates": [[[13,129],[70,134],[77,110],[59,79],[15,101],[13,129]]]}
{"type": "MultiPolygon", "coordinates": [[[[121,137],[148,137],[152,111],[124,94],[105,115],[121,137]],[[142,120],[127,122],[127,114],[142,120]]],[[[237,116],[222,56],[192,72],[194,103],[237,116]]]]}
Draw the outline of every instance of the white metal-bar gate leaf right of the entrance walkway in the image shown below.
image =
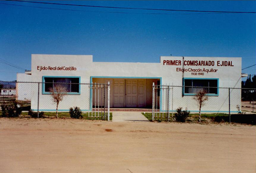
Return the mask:
{"type": "Polygon", "coordinates": [[[152,91],[152,121],[173,120],[173,87],[154,85],[152,91]]]}

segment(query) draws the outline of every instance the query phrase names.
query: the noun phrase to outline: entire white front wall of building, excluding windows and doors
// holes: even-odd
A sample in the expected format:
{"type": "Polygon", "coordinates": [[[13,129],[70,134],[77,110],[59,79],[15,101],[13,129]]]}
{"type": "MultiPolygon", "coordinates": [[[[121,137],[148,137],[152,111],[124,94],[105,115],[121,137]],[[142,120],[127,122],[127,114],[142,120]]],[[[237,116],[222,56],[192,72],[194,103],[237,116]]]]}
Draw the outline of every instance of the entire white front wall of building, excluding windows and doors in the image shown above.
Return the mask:
{"type": "MultiPolygon", "coordinates": [[[[81,83],[93,82],[93,78],[143,78],[147,79],[146,98],[147,106],[151,105],[152,101],[152,81],[159,79],[161,84],[182,86],[183,78],[218,78],[219,87],[236,87],[241,86],[241,58],[227,58],[227,57],[160,57],[159,63],[134,63],[134,62],[93,62],[91,55],[42,55],[32,54],[32,81],[41,82],[43,76],[76,76],[81,77],[81,83]],[[181,64],[166,65],[167,60],[177,60],[181,64]],[[214,66],[184,65],[184,61],[189,60],[203,60],[214,61],[214,66]],[[233,66],[218,66],[217,62],[232,61],[233,66]],[[41,70],[40,67],[75,67],[76,70],[41,70]],[[178,71],[177,68],[192,68],[192,69],[207,69],[216,70],[215,72],[204,72],[204,75],[195,75],[192,72],[178,71]],[[151,80],[151,81],[150,81],[151,80]]],[[[103,82],[99,79],[97,82],[103,82]]],[[[106,80],[104,80],[106,82],[106,80]]],[[[40,86],[40,109],[54,110],[55,104],[49,102],[50,96],[42,94],[42,87],[40,86]]],[[[241,91],[240,91],[241,92],[241,91]]],[[[90,93],[88,87],[81,88],[80,95],[68,95],[60,104],[60,110],[68,110],[70,106],[79,106],[82,110],[90,109],[87,102],[88,94],[90,93]]],[[[32,108],[37,108],[37,94],[38,91],[32,89],[32,108]],[[35,100],[35,102],[33,102],[35,100]]],[[[172,94],[172,92],[170,92],[172,94]]],[[[173,109],[178,107],[188,108],[191,111],[198,110],[193,96],[183,96],[182,88],[173,89],[173,109]]],[[[208,104],[204,106],[207,111],[228,111],[228,92],[219,90],[218,96],[209,96],[208,104]]],[[[236,111],[235,105],[240,103],[241,94],[237,93],[232,104],[232,111],[236,111]]],[[[164,103],[161,104],[164,109],[164,103]]]]}

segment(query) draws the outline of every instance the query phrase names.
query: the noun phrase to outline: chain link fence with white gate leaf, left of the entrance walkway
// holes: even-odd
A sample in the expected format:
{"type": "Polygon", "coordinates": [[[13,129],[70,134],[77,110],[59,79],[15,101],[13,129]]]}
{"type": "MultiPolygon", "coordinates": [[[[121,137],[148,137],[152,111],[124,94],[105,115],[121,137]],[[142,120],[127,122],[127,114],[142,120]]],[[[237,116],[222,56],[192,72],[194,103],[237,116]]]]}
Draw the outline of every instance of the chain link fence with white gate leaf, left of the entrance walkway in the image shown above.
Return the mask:
{"type": "Polygon", "coordinates": [[[88,119],[109,120],[110,84],[66,82],[1,82],[4,88],[15,88],[15,95],[1,92],[0,104],[16,101],[22,111],[69,112],[79,107],[88,119]],[[57,107],[58,102],[58,107],[57,107]]]}

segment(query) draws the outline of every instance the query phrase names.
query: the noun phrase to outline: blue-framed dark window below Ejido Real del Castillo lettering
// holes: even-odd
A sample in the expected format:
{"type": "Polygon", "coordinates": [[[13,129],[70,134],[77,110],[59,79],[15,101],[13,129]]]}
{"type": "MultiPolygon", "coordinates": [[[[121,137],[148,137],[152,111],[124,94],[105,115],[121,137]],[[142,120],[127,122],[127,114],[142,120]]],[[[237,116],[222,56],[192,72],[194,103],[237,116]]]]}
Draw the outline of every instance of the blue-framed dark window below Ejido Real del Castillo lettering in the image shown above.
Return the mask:
{"type": "Polygon", "coordinates": [[[81,94],[81,77],[70,76],[43,76],[42,94],[51,94],[50,88],[61,85],[66,88],[68,95],[81,94]],[[58,84],[60,83],[60,84],[58,84]],[[62,83],[62,84],[61,84],[62,83]]]}

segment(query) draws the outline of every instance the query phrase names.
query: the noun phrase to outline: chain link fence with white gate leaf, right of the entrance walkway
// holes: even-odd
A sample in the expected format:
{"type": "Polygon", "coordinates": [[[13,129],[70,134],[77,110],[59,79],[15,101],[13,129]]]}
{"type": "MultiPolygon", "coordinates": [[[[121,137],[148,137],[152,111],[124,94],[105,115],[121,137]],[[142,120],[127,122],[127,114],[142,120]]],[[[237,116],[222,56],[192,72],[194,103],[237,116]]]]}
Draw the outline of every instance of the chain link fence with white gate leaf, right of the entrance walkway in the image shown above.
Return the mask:
{"type": "Polygon", "coordinates": [[[255,112],[256,89],[153,84],[152,120],[171,121],[177,108],[187,108],[191,113],[198,113],[200,105],[196,94],[200,91],[204,91],[207,97],[201,104],[201,113],[255,112]]]}

